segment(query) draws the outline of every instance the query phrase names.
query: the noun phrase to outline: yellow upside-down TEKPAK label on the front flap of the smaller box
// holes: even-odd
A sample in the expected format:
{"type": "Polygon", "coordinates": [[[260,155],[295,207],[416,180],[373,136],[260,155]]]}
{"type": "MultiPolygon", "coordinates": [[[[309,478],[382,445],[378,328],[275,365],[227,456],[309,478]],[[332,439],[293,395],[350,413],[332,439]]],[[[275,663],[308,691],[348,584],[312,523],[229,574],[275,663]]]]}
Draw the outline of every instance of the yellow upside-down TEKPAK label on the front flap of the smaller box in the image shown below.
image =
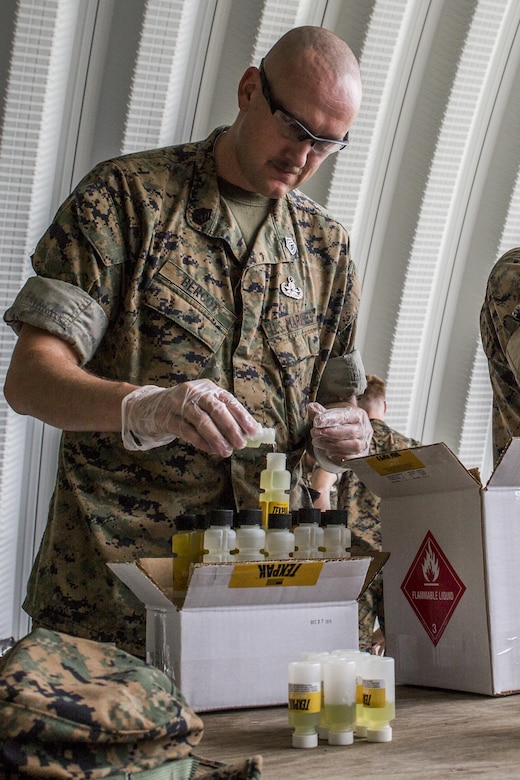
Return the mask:
{"type": "Polygon", "coordinates": [[[266,561],[237,563],[229,588],[266,588],[286,585],[316,585],[323,561],[266,561]]]}

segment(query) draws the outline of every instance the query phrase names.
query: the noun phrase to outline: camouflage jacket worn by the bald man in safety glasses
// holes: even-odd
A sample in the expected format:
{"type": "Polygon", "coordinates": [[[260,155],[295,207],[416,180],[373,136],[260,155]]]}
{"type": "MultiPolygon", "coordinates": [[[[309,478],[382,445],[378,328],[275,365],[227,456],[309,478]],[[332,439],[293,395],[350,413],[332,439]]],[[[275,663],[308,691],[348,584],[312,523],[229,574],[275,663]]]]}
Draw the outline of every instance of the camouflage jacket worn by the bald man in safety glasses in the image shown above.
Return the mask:
{"type": "MultiPolygon", "coordinates": [[[[293,470],[329,357],[347,392],[363,389],[359,282],[344,228],[298,191],[273,201],[248,252],[219,194],[219,132],[94,168],[39,242],[37,276],[5,319],[69,341],[107,379],[213,380],[276,428],[293,470]]],[[[264,466],[265,448],[222,460],[179,440],[129,452],[120,434],[64,432],[25,608],[42,625],[142,654],[142,605],[105,563],[170,554],[180,512],[256,506],[264,466]]]]}

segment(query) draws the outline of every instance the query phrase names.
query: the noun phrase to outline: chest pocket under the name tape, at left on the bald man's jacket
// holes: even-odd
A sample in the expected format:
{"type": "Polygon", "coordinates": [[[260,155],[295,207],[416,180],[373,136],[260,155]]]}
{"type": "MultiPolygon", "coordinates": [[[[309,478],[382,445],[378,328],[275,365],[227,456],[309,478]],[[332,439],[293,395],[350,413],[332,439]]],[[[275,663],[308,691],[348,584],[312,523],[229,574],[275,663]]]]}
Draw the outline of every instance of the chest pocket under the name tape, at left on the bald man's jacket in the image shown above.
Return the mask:
{"type": "MultiPolygon", "coordinates": [[[[236,316],[206,287],[175,263],[168,262],[149,286],[144,303],[179,339],[197,339],[212,353],[233,330],[236,316]]],[[[156,318],[157,319],[157,318],[156,318]]]]}

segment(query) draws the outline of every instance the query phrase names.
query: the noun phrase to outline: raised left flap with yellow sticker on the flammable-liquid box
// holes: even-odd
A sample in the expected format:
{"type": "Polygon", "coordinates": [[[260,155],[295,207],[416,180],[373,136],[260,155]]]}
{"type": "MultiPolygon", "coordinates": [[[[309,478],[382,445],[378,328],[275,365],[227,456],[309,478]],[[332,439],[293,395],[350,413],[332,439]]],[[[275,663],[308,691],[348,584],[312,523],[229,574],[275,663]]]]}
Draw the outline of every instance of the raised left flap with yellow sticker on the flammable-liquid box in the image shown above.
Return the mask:
{"type": "Polygon", "coordinates": [[[381,498],[479,488],[443,442],[354,458],[349,468],[381,498]]]}

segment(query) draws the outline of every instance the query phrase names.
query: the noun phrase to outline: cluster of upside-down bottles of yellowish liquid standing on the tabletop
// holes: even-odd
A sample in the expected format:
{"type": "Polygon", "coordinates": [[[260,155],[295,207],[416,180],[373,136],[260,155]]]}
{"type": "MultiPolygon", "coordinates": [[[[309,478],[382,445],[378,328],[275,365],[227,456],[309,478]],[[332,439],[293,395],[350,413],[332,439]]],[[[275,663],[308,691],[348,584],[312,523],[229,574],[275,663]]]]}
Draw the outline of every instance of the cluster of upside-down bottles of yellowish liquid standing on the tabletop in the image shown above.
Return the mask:
{"type": "Polygon", "coordinates": [[[359,650],[303,653],[288,669],[292,745],[390,742],[395,718],[394,659],[359,650]]]}

